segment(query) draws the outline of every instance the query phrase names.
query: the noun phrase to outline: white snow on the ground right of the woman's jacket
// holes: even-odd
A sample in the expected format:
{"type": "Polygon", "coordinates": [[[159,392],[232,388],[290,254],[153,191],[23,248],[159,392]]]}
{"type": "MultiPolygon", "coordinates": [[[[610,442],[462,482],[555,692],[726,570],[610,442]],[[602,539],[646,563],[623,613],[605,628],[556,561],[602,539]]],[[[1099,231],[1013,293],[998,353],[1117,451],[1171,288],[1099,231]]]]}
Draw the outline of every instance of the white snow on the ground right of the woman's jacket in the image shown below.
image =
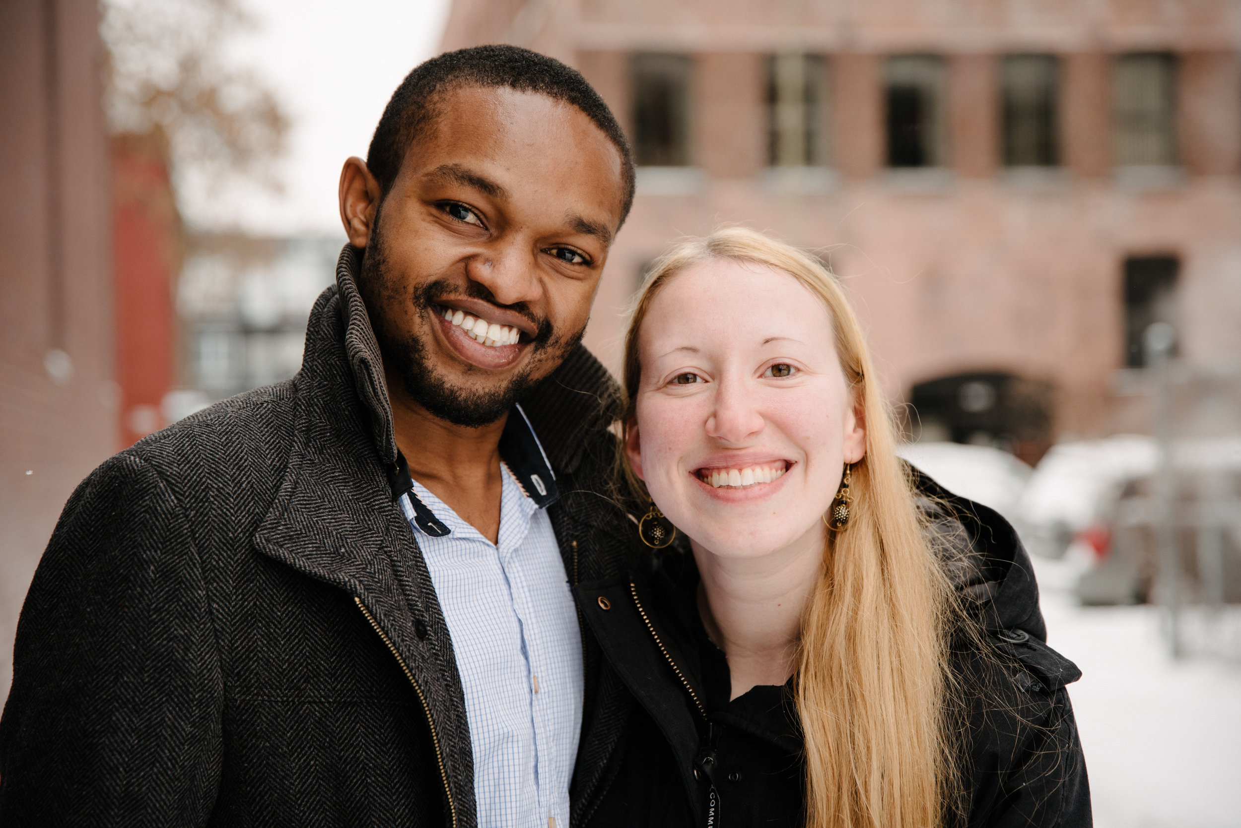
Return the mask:
{"type": "MultiPolygon", "coordinates": [[[[1241,663],[1173,661],[1153,606],[1077,606],[1071,562],[1035,559],[1052,647],[1070,687],[1098,828],[1241,828],[1241,663]]],[[[1231,623],[1235,641],[1236,616],[1231,623]]],[[[1189,619],[1190,633],[1195,619],[1189,619]]],[[[1199,633],[1201,638],[1201,633],[1199,633]]],[[[1216,647],[1220,637],[1214,640],[1216,647]]],[[[1199,647],[1200,650],[1201,647],[1199,647]]]]}

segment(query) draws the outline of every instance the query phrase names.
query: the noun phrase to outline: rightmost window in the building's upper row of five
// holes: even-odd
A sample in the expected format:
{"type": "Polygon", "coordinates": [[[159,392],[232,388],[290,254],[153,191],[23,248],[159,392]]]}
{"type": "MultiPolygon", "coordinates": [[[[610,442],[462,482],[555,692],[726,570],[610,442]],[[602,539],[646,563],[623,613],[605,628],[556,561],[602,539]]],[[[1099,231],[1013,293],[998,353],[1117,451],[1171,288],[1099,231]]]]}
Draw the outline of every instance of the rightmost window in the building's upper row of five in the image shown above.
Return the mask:
{"type": "Polygon", "coordinates": [[[1116,61],[1116,162],[1176,164],[1176,61],[1172,55],[1122,55],[1116,61]]]}

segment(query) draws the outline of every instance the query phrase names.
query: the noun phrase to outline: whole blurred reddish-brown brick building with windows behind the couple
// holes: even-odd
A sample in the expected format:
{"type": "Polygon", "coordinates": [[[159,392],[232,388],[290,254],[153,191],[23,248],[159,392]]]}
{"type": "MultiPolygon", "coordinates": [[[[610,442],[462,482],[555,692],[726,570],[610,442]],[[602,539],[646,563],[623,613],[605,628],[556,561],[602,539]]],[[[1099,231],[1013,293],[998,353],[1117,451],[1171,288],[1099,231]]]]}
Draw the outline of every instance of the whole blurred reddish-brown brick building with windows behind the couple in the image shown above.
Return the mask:
{"type": "Polygon", "coordinates": [[[454,0],[442,47],[486,42],[577,67],[634,144],[587,333],[613,368],[647,263],[724,222],[830,263],[938,438],[1144,430],[1114,389],[1152,321],[1241,352],[1231,0],[454,0]]]}

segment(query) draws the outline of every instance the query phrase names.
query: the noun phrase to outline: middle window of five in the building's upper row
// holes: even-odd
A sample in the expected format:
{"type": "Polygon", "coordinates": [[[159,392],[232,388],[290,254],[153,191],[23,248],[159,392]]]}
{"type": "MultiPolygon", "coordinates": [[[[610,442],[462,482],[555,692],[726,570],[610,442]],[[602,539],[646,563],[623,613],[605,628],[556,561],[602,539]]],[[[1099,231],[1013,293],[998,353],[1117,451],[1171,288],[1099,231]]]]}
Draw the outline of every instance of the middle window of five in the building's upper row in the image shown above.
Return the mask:
{"type": "Polygon", "coordinates": [[[887,165],[943,166],[943,61],[923,55],[887,59],[887,165]]]}

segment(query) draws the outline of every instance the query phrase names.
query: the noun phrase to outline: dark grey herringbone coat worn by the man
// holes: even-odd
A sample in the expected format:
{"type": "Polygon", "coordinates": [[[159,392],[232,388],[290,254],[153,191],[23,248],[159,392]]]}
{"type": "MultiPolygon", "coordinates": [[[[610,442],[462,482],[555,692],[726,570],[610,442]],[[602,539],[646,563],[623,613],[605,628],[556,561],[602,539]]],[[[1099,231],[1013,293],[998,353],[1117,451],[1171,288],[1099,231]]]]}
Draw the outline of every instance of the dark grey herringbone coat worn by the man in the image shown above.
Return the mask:
{"type": "MultiPolygon", "coordinates": [[[[475,826],[460,678],[413,533],[346,245],[302,371],[97,469],[22,610],[0,721],[4,826],[475,826]]],[[[570,579],[637,540],[606,496],[617,389],[578,347],[522,400],[562,492],[570,579]]],[[[589,632],[573,824],[628,695],[589,632]]]]}

